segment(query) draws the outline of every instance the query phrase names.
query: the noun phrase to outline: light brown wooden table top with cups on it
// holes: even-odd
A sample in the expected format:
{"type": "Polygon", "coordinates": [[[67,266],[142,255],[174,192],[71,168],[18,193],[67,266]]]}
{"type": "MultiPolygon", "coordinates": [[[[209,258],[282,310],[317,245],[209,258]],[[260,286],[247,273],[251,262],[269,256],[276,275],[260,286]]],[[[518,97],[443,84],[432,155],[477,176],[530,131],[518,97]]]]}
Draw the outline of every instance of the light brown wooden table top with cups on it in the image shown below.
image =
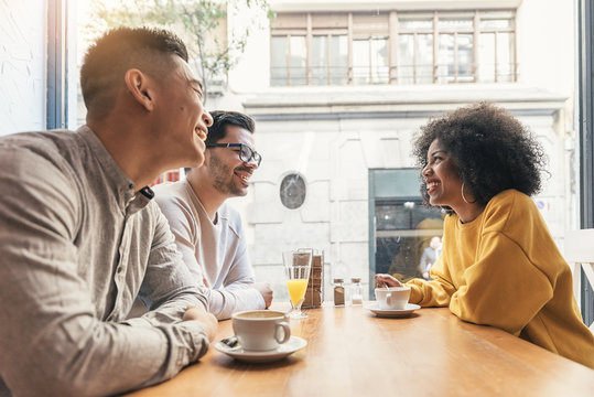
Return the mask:
{"type": "MultiPolygon", "coordinates": [[[[403,319],[361,307],[304,312],[291,332],[309,345],[283,361],[246,364],[210,347],[132,396],[594,396],[594,371],[449,309],[403,319]]],[[[230,320],[219,322],[216,341],[231,334],[230,320]]]]}

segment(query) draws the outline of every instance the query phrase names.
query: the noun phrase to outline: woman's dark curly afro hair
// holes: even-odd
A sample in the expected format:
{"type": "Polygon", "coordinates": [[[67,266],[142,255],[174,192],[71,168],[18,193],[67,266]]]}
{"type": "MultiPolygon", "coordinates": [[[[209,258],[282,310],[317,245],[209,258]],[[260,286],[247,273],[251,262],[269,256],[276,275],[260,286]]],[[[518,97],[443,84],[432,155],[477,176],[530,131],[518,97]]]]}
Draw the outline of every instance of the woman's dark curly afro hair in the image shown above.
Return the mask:
{"type": "MultiPolygon", "coordinates": [[[[435,139],[458,167],[465,192],[479,204],[486,205],[507,189],[527,195],[540,191],[544,151],[534,136],[503,108],[478,103],[431,119],[414,141],[413,155],[421,170],[435,139]]],[[[421,194],[429,205],[425,187],[422,182],[421,194]]]]}

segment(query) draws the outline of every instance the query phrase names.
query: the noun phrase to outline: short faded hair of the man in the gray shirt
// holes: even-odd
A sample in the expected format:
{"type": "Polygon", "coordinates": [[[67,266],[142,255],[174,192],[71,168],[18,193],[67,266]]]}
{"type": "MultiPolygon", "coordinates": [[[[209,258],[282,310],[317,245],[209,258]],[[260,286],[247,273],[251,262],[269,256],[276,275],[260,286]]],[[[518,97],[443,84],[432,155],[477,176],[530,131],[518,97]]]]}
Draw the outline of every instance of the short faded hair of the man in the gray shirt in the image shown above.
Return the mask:
{"type": "Polygon", "coordinates": [[[89,114],[106,116],[123,84],[126,71],[138,67],[158,76],[177,55],[187,62],[185,44],[174,33],[152,28],[112,29],[93,44],[80,68],[80,88],[89,114]]]}

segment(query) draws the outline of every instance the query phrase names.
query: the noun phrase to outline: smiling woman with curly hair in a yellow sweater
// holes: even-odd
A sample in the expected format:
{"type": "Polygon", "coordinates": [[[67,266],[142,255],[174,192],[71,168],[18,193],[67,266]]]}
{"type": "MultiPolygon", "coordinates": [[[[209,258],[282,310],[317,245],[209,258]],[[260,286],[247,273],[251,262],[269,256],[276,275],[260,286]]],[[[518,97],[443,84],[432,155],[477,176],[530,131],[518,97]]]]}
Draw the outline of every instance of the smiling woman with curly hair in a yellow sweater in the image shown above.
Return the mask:
{"type": "MultiPolygon", "coordinates": [[[[414,155],[425,203],[449,215],[433,280],[409,281],[410,302],[449,307],[464,321],[594,368],[594,336],[580,315],[570,267],[530,198],[544,167],[534,137],[506,110],[480,103],[424,126],[414,155]]],[[[388,275],[376,282],[401,285],[388,275]]]]}

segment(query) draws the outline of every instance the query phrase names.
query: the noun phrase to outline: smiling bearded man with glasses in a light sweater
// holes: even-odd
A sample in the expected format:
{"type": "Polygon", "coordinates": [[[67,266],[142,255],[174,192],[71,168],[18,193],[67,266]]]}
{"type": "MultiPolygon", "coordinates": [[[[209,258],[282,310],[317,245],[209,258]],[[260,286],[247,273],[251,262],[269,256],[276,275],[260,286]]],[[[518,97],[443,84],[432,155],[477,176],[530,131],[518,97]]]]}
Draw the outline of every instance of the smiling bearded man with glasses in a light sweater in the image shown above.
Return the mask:
{"type": "Polygon", "coordinates": [[[245,196],[260,165],[253,150],[253,120],[236,111],[213,111],[203,165],[184,181],[155,186],[177,249],[194,281],[209,288],[208,310],[219,320],[272,302],[268,283],[253,280],[239,213],[226,202],[245,196]]]}

